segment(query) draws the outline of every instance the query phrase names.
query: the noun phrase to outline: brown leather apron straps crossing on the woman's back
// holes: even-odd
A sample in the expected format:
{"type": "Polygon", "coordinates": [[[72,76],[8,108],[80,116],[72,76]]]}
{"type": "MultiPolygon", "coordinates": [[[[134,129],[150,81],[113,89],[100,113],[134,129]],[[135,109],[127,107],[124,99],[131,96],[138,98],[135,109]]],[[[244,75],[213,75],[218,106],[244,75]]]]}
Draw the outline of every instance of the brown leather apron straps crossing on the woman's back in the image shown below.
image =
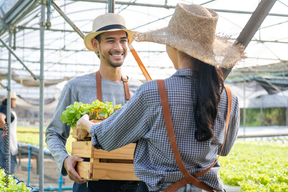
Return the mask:
{"type": "MultiPolygon", "coordinates": [[[[163,116],[164,116],[164,121],[165,121],[165,125],[166,125],[166,130],[167,130],[167,134],[168,134],[168,138],[169,138],[169,142],[173,151],[173,154],[175,156],[175,160],[177,162],[177,165],[179,167],[179,169],[181,170],[182,174],[184,175],[184,178],[177,181],[176,183],[170,185],[168,188],[164,189],[164,192],[168,192],[168,191],[176,191],[178,189],[180,189],[181,187],[183,187],[184,185],[186,185],[187,183],[192,183],[193,185],[195,185],[196,187],[199,187],[201,189],[204,189],[206,191],[213,191],[213,188],[209,187],[206,183],[196,179],[197,177],[203,175],[204,173],[208,172],[217,162],[217,158],[216,161],[214,162],[214,164],[212,166],[210,166],[209,168],[205,169],[204,171],[197,173],[195,175],[191,175],[187,169],[185,168],[183,161],[181,159],[178,147],[177,147],[177,143],[176,143],[176,139],[175,139],[175,134],[174,134],[174,129],[173,129],[173,123],[172,123],[172,117],[171,117],[171,112],[170,112],[170,107],[169,107],[169,102],[168,102],[168,96],[167,96],[167,92],[166,92],[166,87],[165,87],[165,83],[164,80],[156,80],[157,84],[158,84],[158,89],[159,89],[159,94],[160,94],[160,99],[161,99],[161,104],[162,104],[162,111],[163,111],[163,116]]],[[[229,89],[229,88],[228,88],[229,89]]],[[[229,90],[230,91],[230,90],[229,90]]],[[[228,96],[228,91],[227,92],[227,96],[228,96]]],[[[230,97],[228,96],[228,115],[227,115],[227,119],[226,119],[226,131],[225,131],[225,137],[224,137],[224,142],[226,139],[226,134],[227,134],[227,130],[228,130],[228,124],[229,124],[229,119],[230,119],[230,111],[231,111],[231,104],[232,104],[232,95],[230,92],[230,97]],[[230,102],[229,102],[230,100],[230,102]],[[230,109],[229,109],[230,108],[230,109]],[[228,122],[228,123],[227,123],[228,122]]],[[[223,142],[223,145],[224,145],[223,142]]],[[[221,148],[221,152],[223,149],[223,145],[221,148]]],[[[220,152],[220,154],[221,154],[220,152]]],[[[219,155],[220,156],[220,155],[219,155]]]]}

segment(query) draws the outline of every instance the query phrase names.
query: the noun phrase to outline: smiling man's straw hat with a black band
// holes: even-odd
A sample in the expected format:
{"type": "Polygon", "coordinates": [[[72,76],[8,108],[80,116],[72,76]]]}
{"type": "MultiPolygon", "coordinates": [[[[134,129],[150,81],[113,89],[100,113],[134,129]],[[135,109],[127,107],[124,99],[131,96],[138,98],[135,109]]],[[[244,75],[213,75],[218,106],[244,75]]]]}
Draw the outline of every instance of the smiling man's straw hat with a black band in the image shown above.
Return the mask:
{"type": "Polygon", "coordinates": [[[96,17],[93,21],[92,26],[93,32],[88,33],[84,37],[84,44],[88,50],[96,51],[92,47],[91,39],[95,38],[96,35],[99,35],[100,33],[104,33],[107,31],[121,31],[121,30],[127,32],[129,39],[128,45],[130,45],[134,40],[133,34],[137,32],[126,29],[124,18],[121,15],[115,13],[107,13],[100,15],[96,17]]]}

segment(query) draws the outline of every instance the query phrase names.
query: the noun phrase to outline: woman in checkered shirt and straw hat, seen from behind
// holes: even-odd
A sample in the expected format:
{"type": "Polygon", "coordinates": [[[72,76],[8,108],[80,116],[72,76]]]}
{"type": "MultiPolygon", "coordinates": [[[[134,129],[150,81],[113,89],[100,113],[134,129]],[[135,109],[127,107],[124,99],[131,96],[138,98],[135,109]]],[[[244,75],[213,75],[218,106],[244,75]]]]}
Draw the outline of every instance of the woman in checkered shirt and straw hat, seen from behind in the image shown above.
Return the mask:
{"type": "Polygon", "coordinates": [[[102,123],[88,115],[77,122],[78,138],[90,132],[97,149],[138,140],[134,172],[149,191],[223,191],[216,155],[228,155],[236,140],[239,107],[220,68],[245,56],[243,46],[215,35],[217,20],[211,9],[178,3],[168,27],[136,35],[166,44],[177,72],[141,85],[102,123]]]}

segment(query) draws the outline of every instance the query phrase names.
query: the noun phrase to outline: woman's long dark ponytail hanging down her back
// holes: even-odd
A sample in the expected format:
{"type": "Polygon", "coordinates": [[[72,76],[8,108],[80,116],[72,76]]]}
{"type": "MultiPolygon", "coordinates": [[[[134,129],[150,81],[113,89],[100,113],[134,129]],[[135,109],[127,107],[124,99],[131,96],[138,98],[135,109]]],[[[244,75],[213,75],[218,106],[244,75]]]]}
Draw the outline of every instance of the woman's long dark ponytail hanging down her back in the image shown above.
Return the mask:
{"type": "Polygon", "coordinates": [[[215,66],[197,59],[194,60],[193,71],[198,71],[194,77],[197,79],[195,107],[197,129],[195,138],[198,141],[206,141],[213,137],[218,104],[224,88],[223,73],[221,69],[217,69],[215,66]]]}

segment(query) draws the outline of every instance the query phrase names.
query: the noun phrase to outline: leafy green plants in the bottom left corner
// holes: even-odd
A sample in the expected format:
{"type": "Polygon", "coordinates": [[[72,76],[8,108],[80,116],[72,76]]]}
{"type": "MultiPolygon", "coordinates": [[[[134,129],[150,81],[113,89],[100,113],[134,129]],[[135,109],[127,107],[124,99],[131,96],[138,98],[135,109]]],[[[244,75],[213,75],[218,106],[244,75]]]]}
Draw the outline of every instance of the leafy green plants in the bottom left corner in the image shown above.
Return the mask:
{"type": "Polygon", "coordinates": [[[29,192],[30,190],[24,183],[16,185],[17,181],[13,178],[13,175],[5,174],[4,169],[0,170],[0,191],[2,192],[29,192]],[[8,182],[8,183],[5,183],[8,182]]]}

